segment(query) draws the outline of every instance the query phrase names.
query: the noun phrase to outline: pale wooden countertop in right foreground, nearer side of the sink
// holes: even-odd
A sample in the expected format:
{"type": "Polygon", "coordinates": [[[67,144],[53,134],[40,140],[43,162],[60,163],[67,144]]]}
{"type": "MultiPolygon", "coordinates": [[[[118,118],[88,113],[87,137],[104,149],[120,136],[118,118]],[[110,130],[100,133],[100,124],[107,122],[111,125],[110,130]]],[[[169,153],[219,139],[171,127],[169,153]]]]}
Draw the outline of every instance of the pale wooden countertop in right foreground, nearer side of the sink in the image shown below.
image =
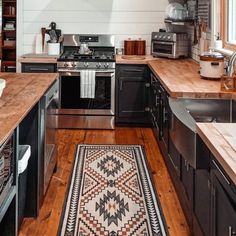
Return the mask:
{"type": "Polygon", "coordinates": [[[236,123],[197,123],[197,132],[236,184],[236,123]]]}

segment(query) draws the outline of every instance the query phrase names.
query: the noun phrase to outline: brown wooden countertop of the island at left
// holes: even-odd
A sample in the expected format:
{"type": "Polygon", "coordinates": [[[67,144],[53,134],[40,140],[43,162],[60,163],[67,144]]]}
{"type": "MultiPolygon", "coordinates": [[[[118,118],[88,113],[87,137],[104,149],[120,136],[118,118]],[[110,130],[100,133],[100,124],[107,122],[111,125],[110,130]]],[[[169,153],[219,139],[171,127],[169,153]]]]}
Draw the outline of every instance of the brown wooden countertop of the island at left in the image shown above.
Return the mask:
{"type": "Polygon", "coordinates": [[[0,73],[6,88],[0,97],[0,145],[40,100],[57,73],[0,73]]]}

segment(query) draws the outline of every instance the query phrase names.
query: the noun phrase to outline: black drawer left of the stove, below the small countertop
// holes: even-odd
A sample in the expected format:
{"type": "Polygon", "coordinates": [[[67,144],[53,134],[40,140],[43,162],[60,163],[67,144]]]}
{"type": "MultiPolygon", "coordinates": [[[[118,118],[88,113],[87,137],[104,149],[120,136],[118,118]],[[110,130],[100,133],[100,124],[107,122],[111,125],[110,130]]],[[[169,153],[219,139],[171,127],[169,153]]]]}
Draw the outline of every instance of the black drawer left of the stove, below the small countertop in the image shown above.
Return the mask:
{"type": "Polygon", "coordinates": [[[55,63],[23,63],[22,72],[26,73],[54,73],[57,71],[55,63]]]}

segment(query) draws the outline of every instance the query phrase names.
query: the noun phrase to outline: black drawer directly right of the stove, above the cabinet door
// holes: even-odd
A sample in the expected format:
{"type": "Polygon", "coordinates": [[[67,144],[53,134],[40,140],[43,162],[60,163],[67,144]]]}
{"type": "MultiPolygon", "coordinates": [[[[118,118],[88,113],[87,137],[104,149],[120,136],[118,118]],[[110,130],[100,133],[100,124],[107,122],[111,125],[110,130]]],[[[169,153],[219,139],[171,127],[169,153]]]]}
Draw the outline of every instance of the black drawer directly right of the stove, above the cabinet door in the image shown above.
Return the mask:
{"type": "Polygon", "coordinates": [[[136,76],[145,76],[147,74],[147,67],[144,65],[140,66],[130,66],[130,65],[119,65],[118,71],[120,76],[127,77],[136,77],[136,76]]]}

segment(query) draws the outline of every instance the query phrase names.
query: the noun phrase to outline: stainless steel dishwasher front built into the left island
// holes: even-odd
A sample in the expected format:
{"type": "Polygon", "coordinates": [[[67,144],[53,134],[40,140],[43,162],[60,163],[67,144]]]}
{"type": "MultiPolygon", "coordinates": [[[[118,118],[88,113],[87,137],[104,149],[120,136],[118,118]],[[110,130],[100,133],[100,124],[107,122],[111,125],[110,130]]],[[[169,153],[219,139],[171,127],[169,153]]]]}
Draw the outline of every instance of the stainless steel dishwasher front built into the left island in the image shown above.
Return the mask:
{"type": "Polygon", "coordinates": [[[59,108],[59,81],[57,80],[41,100],[41,140],[43,143],[43,194],[45,194],[57,163],[57,110],[59,108]]]}

